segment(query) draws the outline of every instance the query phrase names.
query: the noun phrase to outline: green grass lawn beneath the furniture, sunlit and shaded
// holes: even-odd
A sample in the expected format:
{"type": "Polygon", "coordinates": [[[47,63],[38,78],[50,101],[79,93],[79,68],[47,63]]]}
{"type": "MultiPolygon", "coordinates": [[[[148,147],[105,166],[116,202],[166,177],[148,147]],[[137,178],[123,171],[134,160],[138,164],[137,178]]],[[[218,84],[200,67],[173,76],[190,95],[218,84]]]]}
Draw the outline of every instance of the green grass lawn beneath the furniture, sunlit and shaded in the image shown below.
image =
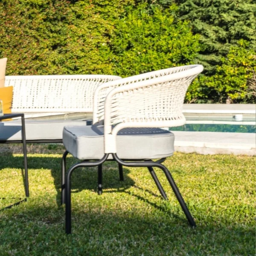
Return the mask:
{"type": "MultiPolygon", "coordinates": [[[[52,152],[55,152],[52,148],[52,152]]],[[[68,166],[76,160],[68,157],[68,166]]],[[[172,189],[156,173],[164,201],[145,168],[95,168],[72,180],[73,233],[64,230],[61,154],[29,154],[30,197],[0,212],[0,256],[18,255],[255,255],[255,157],[176,153],[166,160],[197,227],[186,220],[172,189]]],[[[0,208],[23,197],[22,154],[0,154],[0,208]]]]}

